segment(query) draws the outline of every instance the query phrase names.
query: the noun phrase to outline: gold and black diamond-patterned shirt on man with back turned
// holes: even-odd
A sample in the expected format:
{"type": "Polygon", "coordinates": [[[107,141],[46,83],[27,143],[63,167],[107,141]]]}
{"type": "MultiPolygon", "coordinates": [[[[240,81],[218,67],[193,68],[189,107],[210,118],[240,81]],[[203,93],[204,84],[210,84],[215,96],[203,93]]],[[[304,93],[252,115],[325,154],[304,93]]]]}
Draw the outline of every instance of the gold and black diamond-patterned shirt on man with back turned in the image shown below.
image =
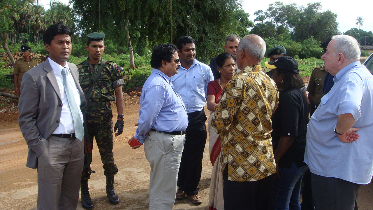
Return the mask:
{"type": "Polygon", "coordinates": [[[278,102],[276,84],[260,65],[246,67],[225,86],[211,125],[220,132],[228,180],[251,182],[276,172],[270,134],[278,102]]]}

